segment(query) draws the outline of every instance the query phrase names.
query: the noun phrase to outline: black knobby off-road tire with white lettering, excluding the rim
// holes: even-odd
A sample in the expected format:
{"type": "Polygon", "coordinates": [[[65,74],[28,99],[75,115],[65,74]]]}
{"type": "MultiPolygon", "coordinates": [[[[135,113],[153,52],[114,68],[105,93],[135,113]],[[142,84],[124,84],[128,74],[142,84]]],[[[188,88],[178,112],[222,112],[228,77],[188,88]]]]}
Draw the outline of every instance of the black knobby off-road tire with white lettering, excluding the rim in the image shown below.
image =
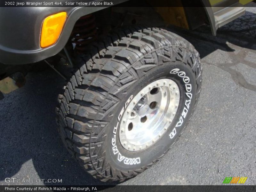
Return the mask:
{"type": "Polygon", "coordinates": [[[186,127],[201,90],[198,52],[187,40],[166,29],[116,29],[88,46],[77,58],[77,65],[79,68],[58,98],[58,130],[72,156],[101,181],[134,177],[163,156],[186,127]],[[131,94],[136,95],[146,84],[161,78],[176,81],[181,94],[167,134],[142,151],[125,150],[118,144],[118,135],[117,146],[113,146],[113,129],[125,102],[131,94]]]}

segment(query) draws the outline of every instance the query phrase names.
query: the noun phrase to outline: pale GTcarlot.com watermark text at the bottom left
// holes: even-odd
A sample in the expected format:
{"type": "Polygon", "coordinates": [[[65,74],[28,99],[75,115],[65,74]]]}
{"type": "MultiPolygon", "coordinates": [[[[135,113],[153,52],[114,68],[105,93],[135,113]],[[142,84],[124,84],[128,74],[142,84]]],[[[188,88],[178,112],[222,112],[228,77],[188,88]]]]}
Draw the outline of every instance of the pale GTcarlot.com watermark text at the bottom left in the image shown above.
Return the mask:
{"type": "Polygon", "coordinates": [[[7,177],[6,183],[62,183],[62,179],[19,179],[16,177],[7,177]]]}

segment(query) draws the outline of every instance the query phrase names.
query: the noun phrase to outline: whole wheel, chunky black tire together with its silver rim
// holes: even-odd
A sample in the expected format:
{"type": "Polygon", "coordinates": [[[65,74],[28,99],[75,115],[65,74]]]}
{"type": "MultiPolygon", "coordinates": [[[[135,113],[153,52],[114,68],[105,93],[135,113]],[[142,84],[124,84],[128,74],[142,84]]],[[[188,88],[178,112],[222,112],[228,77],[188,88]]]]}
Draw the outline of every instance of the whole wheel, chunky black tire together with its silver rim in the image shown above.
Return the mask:
{"type": "Polygon", "coordinates": [[[97,179],[136,176],[170,149],[195,110],[198,52],[168,30],[135,26],[88,46],[77,63],[57,107],[65,146],[97,179]]]}

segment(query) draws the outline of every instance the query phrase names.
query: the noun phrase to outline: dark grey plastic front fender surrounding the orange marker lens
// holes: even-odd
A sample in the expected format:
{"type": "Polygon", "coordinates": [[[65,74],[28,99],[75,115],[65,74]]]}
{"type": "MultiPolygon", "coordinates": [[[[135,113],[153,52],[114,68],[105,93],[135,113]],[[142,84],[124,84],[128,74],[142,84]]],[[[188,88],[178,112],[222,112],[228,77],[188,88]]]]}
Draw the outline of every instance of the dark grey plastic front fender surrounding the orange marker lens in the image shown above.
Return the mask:
{"type": "MultiPolygon", "coordinates": [[[[127,0],[118,0],[115,4],[127,0]]],[[[76,21],[87,14],[106,7],[1,7],[0,63],[27,64],[44,60],[60,52],[76,21]],[[57,42],[40,47],[43,20],[58,12],[67,12],[67,20],[57,42]]]]}

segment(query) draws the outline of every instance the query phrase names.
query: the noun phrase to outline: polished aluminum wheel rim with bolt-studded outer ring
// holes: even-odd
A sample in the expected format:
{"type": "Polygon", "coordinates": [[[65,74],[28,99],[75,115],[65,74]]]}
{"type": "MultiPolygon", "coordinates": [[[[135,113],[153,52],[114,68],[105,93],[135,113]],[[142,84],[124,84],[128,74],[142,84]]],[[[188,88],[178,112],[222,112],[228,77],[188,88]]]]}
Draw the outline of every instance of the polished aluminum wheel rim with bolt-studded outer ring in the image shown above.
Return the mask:
{"type": "Polygon", "coordinates": [[[180,90],[173,80],[148,84],[132,99],[120,120],[121,145],[129,151],[153,145],[172,123],[179,103],[180,90]]]}

